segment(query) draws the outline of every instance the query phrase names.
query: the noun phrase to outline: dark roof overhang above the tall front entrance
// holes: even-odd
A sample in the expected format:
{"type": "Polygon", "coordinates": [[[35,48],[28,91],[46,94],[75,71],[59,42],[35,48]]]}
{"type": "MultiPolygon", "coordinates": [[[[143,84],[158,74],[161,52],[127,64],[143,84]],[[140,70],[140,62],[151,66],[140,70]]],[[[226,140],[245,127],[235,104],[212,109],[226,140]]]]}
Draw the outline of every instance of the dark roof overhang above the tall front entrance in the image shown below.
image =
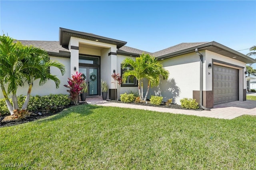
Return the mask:
{"type": "Polygon", "coordinates": [[[97,36],[95,34],[69,30],[66,28],[60,28],[60,35],[59,35],[60,45],[67,47],[69,44],[69,41],[70,41],[70,37],[82,38],[82,39],[91,40],[91,41],[98,40],[97,42],[114,44],[114,45],[116,45],[117,48],[120,48],[127,43],[127,42],[115,40],[112,38],[97,36]]]}

